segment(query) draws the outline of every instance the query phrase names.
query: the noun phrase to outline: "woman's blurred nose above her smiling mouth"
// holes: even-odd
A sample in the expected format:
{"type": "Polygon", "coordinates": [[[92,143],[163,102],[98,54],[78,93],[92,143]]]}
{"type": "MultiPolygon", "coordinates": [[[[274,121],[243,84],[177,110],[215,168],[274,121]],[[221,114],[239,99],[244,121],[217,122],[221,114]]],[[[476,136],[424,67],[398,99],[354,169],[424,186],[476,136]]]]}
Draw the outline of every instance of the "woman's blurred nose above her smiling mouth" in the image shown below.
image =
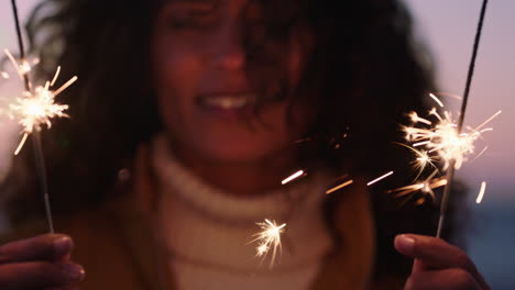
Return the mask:
{"type": "Polygon", "coordinates": [[[211,62],[217,69],[239,70],[245,65],[241,27],[228,23],[219,29],[211,46],[211,62]]]}

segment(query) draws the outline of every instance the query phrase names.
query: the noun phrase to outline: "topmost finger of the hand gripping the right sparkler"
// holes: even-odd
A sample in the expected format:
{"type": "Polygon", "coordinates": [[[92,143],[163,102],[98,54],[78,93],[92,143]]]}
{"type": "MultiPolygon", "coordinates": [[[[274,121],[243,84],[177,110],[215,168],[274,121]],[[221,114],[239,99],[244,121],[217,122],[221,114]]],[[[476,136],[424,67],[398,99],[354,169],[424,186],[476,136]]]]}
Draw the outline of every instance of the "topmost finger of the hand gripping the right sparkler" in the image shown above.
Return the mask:
{"type": "Polygon", "coordinates": [[[415,259],[413,272],[461,268],[470,272],[483,288],[487,288],[486,281],[469,256],[441,238],[414,234],[398,235],[395,237],[395,248],[415,259]]]}

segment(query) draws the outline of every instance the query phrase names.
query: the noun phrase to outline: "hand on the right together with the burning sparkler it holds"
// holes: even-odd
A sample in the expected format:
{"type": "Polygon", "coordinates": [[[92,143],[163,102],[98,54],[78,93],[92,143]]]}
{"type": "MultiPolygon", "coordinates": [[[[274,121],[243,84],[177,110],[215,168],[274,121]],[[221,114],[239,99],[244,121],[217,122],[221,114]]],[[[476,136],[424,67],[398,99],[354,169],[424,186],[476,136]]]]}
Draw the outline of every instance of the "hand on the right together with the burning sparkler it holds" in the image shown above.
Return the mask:
{"type": "MultiPolygon", "coordinates": [[[[469,130],[469,132],[462,132],[486,4],[487,0],[483,0],[459,121],[454,122],[449,112],[445,112],[445,118],[442,118],[438,114],[436,109],[432,109],[430,114],[438,119],[438,123],[436,125],[426,119],[419,118],[416,113],[412,113],[410,118],[415,124],[423,123],[426,125],[431,125],[431,127],[406,127],[408,141],[416,142],[416,144],[410,148],[415,153],[419,153],[419,150],[415,149],[415,147],[421,145],[426,146],[429,153],[438,152],[439,158],[445,163],[443,170],[447,171],[447,176],[445,180],[441,180],[446,181],[443,182],[446,187],[440,207],[440,219],[438,222],[437,237],[405,234],[398,235],[395,238],[395,248],[401,254],[415,260],[412,274],[406,281],[405,289],[490,290],[489,285],[480,275],[467,254],[458,247],[454,247],[439,238],[443,228],[454,169],[460,168],[461,164],[465,159],[465,156],[473,152],[473,143],[484,131],[483,126],[501,113],[501,111],[495,113],[493,116],[483,122],[483,124],[475,129],[469,130]]],[[[440,107],[443,107],[443,104],[439,102],[435,96],[431,96],[431,98],[434,98],[440,107]]],[[[417,160],[420,161],[419,168],[424,168],[426,163],[430,161],[430,159],[423,158],[423,156],[424,155],[419,155],[419,158],[417,158],[417,160]]],[[[432,175],[436,172],[437,170],[432,175]]],[[[431,177],[428,179],[430,178],[431,177]]],[[[399,190],[404,190],[402,192],[406,192],[409,190],[407,188],[408,187],[399,190]]],[[[481,198],[484,193],[484,189],[485,183],[483,182],[480,193],[481,198]]],[[[480,198],[478,198],[478,201],[480,201],[480,198]]]]}

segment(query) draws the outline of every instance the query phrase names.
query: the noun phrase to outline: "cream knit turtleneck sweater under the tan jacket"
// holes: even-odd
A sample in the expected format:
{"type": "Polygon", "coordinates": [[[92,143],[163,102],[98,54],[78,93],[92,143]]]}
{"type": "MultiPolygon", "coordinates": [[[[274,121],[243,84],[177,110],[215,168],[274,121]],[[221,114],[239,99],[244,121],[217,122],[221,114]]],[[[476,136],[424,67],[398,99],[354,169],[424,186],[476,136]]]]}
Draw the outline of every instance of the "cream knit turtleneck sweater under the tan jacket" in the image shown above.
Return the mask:
{"type": "Polygon", "coordinates": [[[158,220],[169,268],[180,290],[308,289],[332,247],[321,212],[327,176],[259,197],[228,194],[187,171],[164,136],[153,143],[161,200],[158,220]],[[288,219],[289,216],[289,219],[288,219]],[[249,244],[264,219],[287,222],[283,250],[255,257],[249,244]]]}

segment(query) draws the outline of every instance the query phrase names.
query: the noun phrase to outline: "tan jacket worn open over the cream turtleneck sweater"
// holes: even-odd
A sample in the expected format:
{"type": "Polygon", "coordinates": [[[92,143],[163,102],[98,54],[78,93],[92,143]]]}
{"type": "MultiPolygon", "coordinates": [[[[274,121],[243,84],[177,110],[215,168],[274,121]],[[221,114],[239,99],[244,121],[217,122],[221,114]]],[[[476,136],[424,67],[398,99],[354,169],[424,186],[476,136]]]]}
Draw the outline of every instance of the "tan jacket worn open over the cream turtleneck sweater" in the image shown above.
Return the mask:
{"type": "MultiPolygon", "coordinates": [[[[139,155],[131,193],[95,210],[66,219],[57,217],[55,228],[74,238],[73,259],[86,269],[83,290],[173,290],[163,253],[151,230],[155,197],[147,158],[139,155]]],[[[374,265],[374,227],[364,188],[350,188],[339,202],[335,227],[342,242],[326,258],[311,289],[401,289],[402,282],[371,282],[374,265]]],[[[43,223],[19,228],[8,241],[44,233],[43,223]]]]}

